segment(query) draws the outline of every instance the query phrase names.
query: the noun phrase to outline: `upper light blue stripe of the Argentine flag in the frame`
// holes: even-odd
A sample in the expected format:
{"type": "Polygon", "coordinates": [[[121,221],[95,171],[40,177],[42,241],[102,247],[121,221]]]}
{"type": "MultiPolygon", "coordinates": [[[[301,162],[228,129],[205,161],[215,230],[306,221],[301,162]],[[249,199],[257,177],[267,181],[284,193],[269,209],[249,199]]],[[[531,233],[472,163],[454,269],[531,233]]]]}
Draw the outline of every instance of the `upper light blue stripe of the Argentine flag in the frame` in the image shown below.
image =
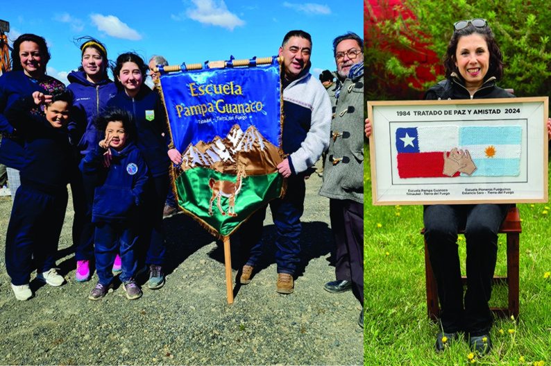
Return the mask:
{"type": "Polygon", "coordinates": [[[459,146],[482,144],[520,144],[520,126],[466,126],[459,128],[459,146]]]}

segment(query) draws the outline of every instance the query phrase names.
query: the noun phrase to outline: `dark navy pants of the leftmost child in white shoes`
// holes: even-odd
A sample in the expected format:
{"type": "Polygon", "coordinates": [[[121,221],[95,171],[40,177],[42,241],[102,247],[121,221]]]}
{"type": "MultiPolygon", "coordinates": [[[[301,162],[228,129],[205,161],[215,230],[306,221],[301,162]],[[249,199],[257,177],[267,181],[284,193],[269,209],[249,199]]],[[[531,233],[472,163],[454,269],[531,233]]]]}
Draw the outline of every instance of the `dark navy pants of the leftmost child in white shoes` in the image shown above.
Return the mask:
{"type": "Polygon", "coordinates": [[[43,192],[19,186],[6,235],[6,270],[13,285],[29,283],[33,269],[42,273],[55,267],[66,208],[67,188],[43,192]]]}

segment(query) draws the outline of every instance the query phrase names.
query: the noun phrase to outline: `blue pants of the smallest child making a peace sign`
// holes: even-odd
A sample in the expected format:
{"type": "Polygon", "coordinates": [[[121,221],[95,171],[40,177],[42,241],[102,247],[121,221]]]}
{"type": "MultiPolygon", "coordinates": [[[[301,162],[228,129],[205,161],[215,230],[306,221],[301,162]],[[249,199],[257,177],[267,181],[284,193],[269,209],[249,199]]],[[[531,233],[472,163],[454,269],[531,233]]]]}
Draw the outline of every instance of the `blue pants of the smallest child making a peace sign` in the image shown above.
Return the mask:
{"type": "Polygon", "coordinates": [[[134,278],[137,269],[138,228],[137,220],[128,222],[96,222],[94,234],[94,252],[96,254],[96,272],[99,283],[104,286],[113,281],[112,267],[115,256],[120,253],[122,273],[119,276],[121,282],[134,278]]]}

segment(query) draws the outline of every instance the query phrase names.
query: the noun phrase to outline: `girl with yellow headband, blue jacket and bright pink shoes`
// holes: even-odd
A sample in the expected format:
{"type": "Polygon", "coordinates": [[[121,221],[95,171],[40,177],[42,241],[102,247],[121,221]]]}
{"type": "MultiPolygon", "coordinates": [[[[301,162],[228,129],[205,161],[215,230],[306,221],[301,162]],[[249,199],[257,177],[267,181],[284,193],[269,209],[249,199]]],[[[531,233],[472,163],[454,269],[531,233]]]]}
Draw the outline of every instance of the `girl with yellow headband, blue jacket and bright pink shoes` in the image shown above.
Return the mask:
{"type": "MultiPolygon", "coordinates": [[[[74,94],[73,111],[69,130],[76,138],[76,166],[71,174],[71,192],[73,194],[74,222],[73,242],[76,248],[76,281],[90,280],[90,260],[94,258],[94,225],[92,224],[92,200],[94,186],[83,179],[78,163],[90,151],[94,150],[103,131],[98,131],[93,123],[107,102],[117,94],[117,87],[107,74],[109,60],[107,49],[99,40],[84,37],[80,46],[81,58],[78,71],[69,73],[70,84],[67,89],[74,94]]],[[[113,272],[120,273],[121,260],[117,256],[113,272]]]]}

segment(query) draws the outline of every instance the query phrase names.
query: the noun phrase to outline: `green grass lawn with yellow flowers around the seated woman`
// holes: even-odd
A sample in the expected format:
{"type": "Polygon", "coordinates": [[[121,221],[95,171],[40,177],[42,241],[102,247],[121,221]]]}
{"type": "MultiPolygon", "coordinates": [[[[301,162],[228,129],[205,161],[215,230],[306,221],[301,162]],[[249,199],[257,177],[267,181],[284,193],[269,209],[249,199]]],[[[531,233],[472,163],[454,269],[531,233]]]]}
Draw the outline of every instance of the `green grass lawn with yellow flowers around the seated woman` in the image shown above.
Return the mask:
{"type": "MultiPolygon", "coordinates": [[[[364,365],[551,365],[551,203],[519,204],[520,314],[495,319],[493,349],[474,358],[461,338],[434,351],[439,325],[427,317],[422,206],[372,206],[371,167],[364,172],[364,365]]],[[[550,166],[551,172],[551,166],[550,166]]],[[[505,235],[496,274],[506,274],[505,235]]],[[[464,238],[459,238],[464,273],[464,238]],[[463,245],[461,245],[461,243],[463,245]]],[[[507,306],[507,287],[493,288],[491,305],[507,306]]]]}

